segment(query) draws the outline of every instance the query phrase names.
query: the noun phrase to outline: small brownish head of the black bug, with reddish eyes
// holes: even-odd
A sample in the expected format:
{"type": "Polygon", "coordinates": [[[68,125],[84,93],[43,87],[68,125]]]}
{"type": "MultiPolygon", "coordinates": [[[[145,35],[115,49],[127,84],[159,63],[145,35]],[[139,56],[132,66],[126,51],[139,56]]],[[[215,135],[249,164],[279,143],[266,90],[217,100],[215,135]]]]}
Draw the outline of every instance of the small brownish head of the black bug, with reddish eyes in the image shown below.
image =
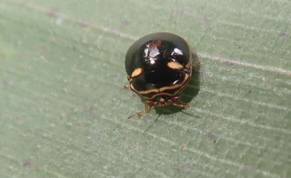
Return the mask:
{"type": "Polygon", "coordinates": [[[154,99],[147,100],[147,103],[155,107],[164,107],[173,104],[180,99],[179,96],[158,96],[154,99]]]}

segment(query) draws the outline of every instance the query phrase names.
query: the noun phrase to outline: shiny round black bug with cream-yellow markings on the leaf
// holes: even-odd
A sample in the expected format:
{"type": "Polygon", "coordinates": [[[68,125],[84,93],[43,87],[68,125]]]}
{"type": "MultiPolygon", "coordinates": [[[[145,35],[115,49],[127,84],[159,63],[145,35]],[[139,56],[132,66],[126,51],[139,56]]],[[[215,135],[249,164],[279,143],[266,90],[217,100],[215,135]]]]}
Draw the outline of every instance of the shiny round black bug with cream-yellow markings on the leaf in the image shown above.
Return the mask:
{"type": "Polygon", "coordinates": [[[137,39],[125,55],[125,70],[129,87],[145,100],[144,111],[152,107],[175,105],[188,108],[181,93],[191,78],[192,51],[188,42],[170,32],[156,32],[137,39]]]}

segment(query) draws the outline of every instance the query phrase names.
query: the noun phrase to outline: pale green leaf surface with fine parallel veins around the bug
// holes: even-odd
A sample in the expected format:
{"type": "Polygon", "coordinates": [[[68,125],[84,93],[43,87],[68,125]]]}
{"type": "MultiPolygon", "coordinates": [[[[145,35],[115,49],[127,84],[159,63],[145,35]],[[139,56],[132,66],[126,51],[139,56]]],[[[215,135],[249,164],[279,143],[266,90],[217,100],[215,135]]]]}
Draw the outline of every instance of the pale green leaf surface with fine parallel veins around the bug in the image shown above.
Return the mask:
{"type": "Polygon", "coordinates": [[[289,0],[0,0],[0,176],[291,177],[290,11],[289,0]],[[197,49],[200,91],[184,94],[190,109],[127,119],[143,104],[122,88],[124,55],[156,31],[197,49]]]}

